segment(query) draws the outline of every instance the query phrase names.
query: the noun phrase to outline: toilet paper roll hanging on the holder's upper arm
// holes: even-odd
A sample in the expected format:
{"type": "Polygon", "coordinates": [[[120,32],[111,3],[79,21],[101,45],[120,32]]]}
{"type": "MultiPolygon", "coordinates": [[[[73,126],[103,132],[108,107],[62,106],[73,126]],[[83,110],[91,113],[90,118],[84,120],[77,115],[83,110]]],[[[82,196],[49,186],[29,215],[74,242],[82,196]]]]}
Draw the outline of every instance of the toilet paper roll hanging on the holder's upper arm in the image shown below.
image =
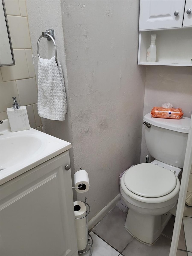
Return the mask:
{"type": "Polygon", "coordinates": [[[79,170],[74,174],[75,187],[80,187],[83,183],[82,188],[75,188],[78,193],[84,193],[89,190],[89,177],[85,170],[79,170]]]}

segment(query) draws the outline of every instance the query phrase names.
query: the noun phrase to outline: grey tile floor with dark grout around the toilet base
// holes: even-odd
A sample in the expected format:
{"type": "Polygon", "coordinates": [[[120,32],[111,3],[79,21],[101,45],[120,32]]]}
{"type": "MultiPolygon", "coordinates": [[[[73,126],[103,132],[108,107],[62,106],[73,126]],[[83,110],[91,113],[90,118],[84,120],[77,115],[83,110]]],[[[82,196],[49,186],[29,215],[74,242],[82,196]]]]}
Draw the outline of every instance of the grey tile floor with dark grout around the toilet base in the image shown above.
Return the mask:
{"type": "MultiPolygon", "coordinates": [[[[158,241],[149,246],[139,242],[125,230],[127,212],[128,208],[119,202],[91,230],[92,256],[169,256],[175,217],[172,216],[158,241]]],[[[176,256],[192,256],[191,219],[183,217],[176,256]]],[[[89,251],[79,255],[88,256],[89,251]]]]}

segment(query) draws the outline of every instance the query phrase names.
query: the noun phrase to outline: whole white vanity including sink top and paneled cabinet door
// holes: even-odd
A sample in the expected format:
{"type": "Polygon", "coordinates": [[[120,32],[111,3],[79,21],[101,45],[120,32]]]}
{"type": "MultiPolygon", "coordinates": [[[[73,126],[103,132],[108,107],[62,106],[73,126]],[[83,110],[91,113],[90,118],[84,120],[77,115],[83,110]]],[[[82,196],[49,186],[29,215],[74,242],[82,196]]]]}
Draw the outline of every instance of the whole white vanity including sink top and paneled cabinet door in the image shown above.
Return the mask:
{"type": "Polygon", "coordinates": [[[77,256],[71,144],[1,125],[0,255],[77,256]]]}

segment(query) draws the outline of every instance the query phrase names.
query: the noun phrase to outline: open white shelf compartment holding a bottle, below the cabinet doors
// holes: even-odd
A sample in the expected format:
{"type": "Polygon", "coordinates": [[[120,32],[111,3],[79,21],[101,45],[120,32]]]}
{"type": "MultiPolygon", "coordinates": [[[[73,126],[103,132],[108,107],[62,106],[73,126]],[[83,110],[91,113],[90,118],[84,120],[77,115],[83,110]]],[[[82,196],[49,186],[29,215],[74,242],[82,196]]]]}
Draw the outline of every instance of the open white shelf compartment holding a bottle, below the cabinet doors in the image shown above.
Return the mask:
{"type": "Polygon", "coordinates": [[[144,31],[139,35],[139,65],[192,66],[191,28],[144,31]],[[156,62],[146,62],[151,34],[156,34],[156,62]]]}

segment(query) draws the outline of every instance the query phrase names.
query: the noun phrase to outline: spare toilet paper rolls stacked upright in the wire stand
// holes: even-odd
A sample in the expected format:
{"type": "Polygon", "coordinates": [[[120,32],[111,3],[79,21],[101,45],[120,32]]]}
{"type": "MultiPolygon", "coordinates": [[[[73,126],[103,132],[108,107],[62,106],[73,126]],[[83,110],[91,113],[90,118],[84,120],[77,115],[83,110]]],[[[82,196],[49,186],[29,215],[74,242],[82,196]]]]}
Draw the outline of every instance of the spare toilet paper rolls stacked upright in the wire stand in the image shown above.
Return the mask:
{"type": "MultiPolygon", "coordinates": [[[[86,216],[86,206],[81,201],[73,202],[75,218],[86,216]]],[[[87,245],[87,224],[86,217],[82,219],[75,219],[77,248],[78,251],[85,249],[87,245]]]]}

